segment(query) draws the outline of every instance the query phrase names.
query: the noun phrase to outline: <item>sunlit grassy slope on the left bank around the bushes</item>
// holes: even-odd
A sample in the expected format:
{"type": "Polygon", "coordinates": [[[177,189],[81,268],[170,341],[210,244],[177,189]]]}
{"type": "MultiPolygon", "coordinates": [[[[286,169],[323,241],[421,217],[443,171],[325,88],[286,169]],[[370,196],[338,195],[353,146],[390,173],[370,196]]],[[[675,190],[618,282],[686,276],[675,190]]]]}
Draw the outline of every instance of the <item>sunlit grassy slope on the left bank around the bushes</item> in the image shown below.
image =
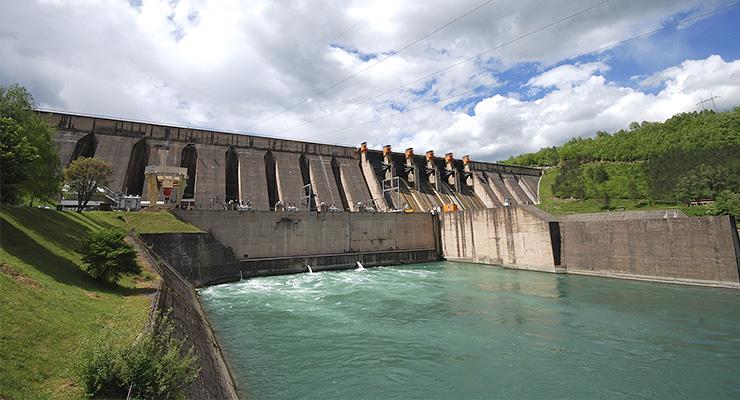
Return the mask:
{"type": "MultiPolygon", "coordinates": [[[[125,226],[122,213],[0,208],[0,398],[81,397],[73,363],[85,340],[110,326],[133,338],[144,326],[155,276],[103,285],[80,267],[93,230],[125,226]]],[[[167,213],[126,213],[140,232],[197,231],[167,213]]]]}

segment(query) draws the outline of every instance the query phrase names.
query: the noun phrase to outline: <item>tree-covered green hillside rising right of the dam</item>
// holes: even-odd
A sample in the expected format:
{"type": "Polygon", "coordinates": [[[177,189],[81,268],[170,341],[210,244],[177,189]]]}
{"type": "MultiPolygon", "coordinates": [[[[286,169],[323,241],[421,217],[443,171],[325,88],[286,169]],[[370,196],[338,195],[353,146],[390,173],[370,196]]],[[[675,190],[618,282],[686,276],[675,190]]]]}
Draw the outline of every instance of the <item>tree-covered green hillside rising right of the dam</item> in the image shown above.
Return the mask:
{"type": "Polygon", "coordinates": [[[504,163],[552,167],[540,186],[554,213],[680,208],[691,215],[740,215],[740,107],[633,122],[504,163]],[[716,204],[691,207],[694,200],[716,204]]]}

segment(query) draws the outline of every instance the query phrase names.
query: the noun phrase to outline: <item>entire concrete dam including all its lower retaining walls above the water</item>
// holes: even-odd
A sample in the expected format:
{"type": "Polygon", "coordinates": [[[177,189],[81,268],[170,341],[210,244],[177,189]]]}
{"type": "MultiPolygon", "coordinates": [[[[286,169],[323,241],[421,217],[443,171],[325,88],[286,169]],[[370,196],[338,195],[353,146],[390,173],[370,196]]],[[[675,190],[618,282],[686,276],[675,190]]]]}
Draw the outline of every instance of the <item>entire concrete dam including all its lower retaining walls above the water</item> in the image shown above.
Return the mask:
{"type": "Polygon", "coordinates": [[[146,198],[149,165],[182,167],[174,210],[203,230],[145,239],[196,286],[241,277],[441,259],[553,273],[740,287],[731,216],[555,217],[542,171],[428,150],[394,152],[40,112],[64,166],[109,161],[109,189],[146,198]],[[234,210],[242,211],[234,211],[234,210]]]}

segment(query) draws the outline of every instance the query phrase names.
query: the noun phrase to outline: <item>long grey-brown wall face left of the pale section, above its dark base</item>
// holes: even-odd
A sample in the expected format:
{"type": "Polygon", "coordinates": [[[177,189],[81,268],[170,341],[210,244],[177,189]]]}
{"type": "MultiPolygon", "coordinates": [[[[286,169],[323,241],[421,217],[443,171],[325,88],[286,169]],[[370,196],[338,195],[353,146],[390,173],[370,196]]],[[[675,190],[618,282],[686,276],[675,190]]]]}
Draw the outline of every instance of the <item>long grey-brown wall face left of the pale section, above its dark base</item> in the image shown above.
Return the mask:
{"type": "Polygon", "coordinates": [[[316,213],[176,210],[238,259],[435,248],[426,213],[316,213]]]}

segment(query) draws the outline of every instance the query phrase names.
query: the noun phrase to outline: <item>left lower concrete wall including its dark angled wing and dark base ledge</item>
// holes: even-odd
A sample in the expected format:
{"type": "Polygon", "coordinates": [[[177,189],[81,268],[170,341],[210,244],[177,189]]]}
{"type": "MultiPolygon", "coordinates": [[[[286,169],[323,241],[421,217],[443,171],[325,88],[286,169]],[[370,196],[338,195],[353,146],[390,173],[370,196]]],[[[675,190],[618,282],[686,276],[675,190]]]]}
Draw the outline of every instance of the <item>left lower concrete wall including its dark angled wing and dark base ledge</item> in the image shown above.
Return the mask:
{"type": "Polygon", "coordinates": [[[191,210],[176,215],[205,231],[142,235],[196,286],[240,277],[436,261],[436,220],[426,213],[191,210]]]}

